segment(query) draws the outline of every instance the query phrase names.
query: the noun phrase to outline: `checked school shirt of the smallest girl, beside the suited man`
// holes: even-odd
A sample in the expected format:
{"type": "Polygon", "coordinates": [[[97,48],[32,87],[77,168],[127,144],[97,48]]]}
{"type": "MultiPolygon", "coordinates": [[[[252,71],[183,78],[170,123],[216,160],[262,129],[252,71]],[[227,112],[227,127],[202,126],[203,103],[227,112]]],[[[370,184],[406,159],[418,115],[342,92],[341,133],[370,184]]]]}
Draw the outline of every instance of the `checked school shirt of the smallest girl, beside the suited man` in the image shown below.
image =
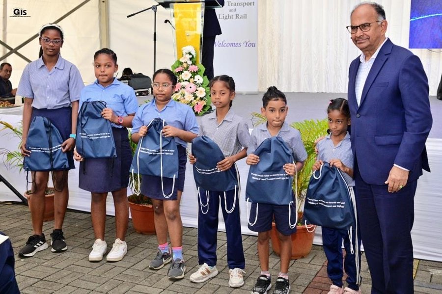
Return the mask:
{"type": "MultiPolygon", "coordinates": [[[[350,134],[347,132],[345,137],[336,146],[331,140],[331,134],[316,144],[318,148],[318,160],[329,162],[332,159],[341,160],[346,166],[353,168],[353,153],[350,134]]],[[[345,182],[349,187],[355,186],[355,180],[345,172],[342,173],[345,182]]]]}

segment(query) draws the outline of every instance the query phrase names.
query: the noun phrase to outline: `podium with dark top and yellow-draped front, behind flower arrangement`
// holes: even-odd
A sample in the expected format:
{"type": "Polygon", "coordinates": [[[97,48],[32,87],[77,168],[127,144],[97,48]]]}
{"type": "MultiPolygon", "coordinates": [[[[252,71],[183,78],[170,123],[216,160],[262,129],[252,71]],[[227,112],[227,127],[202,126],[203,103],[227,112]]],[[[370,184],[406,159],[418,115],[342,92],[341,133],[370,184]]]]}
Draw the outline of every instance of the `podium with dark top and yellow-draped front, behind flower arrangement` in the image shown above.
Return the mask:
{"type": "Polygon", "coordinates": [[[218,0],[157,0],[164,8],[170,8],[172,26],[175,27],[173,41],[176,59],[183,56],[181,49],[191,45],[195,48],[196,62],[201,62],[204,9],[220,8],[218,0]]]}

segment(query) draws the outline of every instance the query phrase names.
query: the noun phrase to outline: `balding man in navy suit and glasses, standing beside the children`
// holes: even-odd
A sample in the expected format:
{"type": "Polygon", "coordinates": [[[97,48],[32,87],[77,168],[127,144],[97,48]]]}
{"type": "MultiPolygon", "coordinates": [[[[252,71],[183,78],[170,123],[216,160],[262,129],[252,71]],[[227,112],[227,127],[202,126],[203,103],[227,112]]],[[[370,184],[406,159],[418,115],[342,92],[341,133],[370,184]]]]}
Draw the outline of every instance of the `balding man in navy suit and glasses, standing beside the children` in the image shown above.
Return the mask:
{"type": "Polygon", "coordinates": [[[414,193],[422,169],[430,171],[428,80],[419,58],[386,38],[381,5],[363,2],[350,18],[362,51],[350,65],[348,102],[371,293],[413,293],[414,193]]]}

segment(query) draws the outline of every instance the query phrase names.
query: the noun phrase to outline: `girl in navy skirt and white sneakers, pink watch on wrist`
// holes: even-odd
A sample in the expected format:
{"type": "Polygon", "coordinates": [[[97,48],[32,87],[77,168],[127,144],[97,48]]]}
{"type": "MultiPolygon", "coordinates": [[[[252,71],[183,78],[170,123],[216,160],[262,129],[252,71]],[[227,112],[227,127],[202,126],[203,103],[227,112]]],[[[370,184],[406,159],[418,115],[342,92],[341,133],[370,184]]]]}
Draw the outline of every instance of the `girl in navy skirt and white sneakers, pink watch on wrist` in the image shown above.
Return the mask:
{"type": "Polygon", "coordinates": [[[94,228],[95,242],[89,254],[89,261],[101,261],[108,249],[105,241],[106,198],[112,193],[115,206],[116,239],[106,257],[107,261],[120,261],[127,253],[124,241],[129,220],[127,187],[129,185],[129,168],[132,152],[129,145],[129,134],[126,128],[132,127],[132,120],[138,109],[134,90],[114,78],[118,71],[117,56],[104,48],[94,54],[94,83],[86,86],[81,95],[80,104],[91,101],[104,101],[106,108],[101,115],[111,122],[117,157],[87,159],[74,151],[74,158],[80,162],[79,187],[90,191],[91,219],[94,228]]]}

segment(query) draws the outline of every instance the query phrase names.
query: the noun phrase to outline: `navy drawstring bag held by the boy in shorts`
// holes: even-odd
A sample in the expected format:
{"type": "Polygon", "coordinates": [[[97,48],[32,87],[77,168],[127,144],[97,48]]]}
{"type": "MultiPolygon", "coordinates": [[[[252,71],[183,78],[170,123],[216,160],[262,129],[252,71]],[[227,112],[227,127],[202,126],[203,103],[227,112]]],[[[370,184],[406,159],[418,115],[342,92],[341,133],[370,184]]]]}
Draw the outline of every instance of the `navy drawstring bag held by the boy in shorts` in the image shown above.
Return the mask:
{"type": "MultiPolygon", "coordinates": [[[[291,204],[294,202],[293,177],[286,174],[284,164],[293,163],[292,150],[279,136],[267,138],[253,152],[259,156],[258,164],[250,165],[249,177],[247,179],[246,200],[256,203],[256,216],[258,215],[258,204],[288,205],[289,222],[291,215],[291,204]]],[[[296,179],[296,176],[295,176],[296,179]]],[[[296,184],[296,182],[295,182],[296,184]]],[[[295,197],[295,202],[297,201],[295,197]]],[[[297,219],[296,219],[297,221],[297,219]]],[[[290,227],[296,226],[290,222],[290,227]]],[[[250,223],[253,226],[256,223],[250,223]]]]}

